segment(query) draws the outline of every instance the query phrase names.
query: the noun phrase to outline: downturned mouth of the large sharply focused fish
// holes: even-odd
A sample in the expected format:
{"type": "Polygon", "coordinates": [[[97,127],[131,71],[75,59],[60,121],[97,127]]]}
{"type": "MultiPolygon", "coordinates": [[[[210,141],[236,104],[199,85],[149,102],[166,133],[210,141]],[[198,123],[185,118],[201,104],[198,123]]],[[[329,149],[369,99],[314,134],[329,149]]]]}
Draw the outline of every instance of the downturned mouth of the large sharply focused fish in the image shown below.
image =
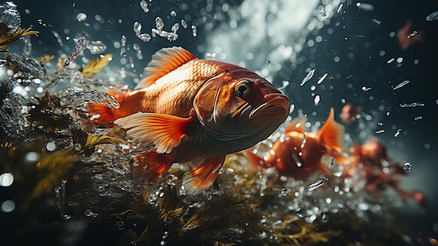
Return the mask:
{"type": "Polygon", "coordinates": [[[279,93],[271,93],[264,95],[263,100],[266,102],[259,104],[250,111],[248,120],[254,118],[257,114],[260,114],[260,112],[263,112],[263,114],[281,114],[283,112],[284,118],[288,116],[290,105],[287,96],[279,93]]]}

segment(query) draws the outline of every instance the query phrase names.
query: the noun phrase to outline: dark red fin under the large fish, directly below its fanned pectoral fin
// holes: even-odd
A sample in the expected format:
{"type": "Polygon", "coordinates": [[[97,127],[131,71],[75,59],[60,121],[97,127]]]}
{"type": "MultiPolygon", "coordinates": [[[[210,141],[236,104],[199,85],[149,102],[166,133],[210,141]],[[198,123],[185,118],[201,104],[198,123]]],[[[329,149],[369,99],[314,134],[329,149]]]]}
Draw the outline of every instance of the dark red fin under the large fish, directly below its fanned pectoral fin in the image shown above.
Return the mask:
{"type": "Polygon", "coordinates": [[[136,158],[139,163],[139,171],[149,182],[157,182],[160,175],[169,170],[173,163],[167,160],[167,154],[150,151],[136,158]]]}

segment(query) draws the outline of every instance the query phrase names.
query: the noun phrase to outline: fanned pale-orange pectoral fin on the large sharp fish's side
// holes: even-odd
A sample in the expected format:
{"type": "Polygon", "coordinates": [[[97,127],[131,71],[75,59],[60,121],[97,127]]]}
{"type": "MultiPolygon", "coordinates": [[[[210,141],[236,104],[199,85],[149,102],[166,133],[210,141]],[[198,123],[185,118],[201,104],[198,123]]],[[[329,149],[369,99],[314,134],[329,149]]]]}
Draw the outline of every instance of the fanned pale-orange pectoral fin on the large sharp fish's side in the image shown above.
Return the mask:
{"type": "Polygon", "coordinates": [[[192,117],[181,118],[168,114],[136,113],[114,121],[127,130],[127,136],[143,145],[153,144],[157,153],[170,153],[185,136],[192,117]]]}

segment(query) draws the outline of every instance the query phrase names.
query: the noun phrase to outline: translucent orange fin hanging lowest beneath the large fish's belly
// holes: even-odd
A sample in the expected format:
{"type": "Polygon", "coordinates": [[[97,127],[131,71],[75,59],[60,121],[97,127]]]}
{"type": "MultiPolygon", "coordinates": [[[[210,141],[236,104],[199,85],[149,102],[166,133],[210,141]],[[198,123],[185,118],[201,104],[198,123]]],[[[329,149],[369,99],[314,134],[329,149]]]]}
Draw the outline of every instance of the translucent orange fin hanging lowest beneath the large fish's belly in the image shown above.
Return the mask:
{"type": "Polygon", "coordinates": [[[186,172],[183,176],[183,186],[190,195],[197,195],[209,187],[218,177],[225,156],[204,161],[201,165],[186,172]]]}

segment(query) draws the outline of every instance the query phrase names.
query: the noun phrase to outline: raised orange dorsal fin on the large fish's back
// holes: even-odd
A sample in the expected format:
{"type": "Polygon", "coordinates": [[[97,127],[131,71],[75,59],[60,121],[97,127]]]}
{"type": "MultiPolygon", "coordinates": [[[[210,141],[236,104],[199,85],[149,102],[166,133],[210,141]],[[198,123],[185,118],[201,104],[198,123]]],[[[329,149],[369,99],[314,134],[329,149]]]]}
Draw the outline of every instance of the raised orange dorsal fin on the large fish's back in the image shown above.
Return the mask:
{"type": "Polygon", "coordinates": [[[195,55],[181,47],[162,48],[152,56],[148,67],[144,69],[144,78],[135,89],[146,88],[158,78],[169,74],[186,62],[196,59],[195,55]]]}

